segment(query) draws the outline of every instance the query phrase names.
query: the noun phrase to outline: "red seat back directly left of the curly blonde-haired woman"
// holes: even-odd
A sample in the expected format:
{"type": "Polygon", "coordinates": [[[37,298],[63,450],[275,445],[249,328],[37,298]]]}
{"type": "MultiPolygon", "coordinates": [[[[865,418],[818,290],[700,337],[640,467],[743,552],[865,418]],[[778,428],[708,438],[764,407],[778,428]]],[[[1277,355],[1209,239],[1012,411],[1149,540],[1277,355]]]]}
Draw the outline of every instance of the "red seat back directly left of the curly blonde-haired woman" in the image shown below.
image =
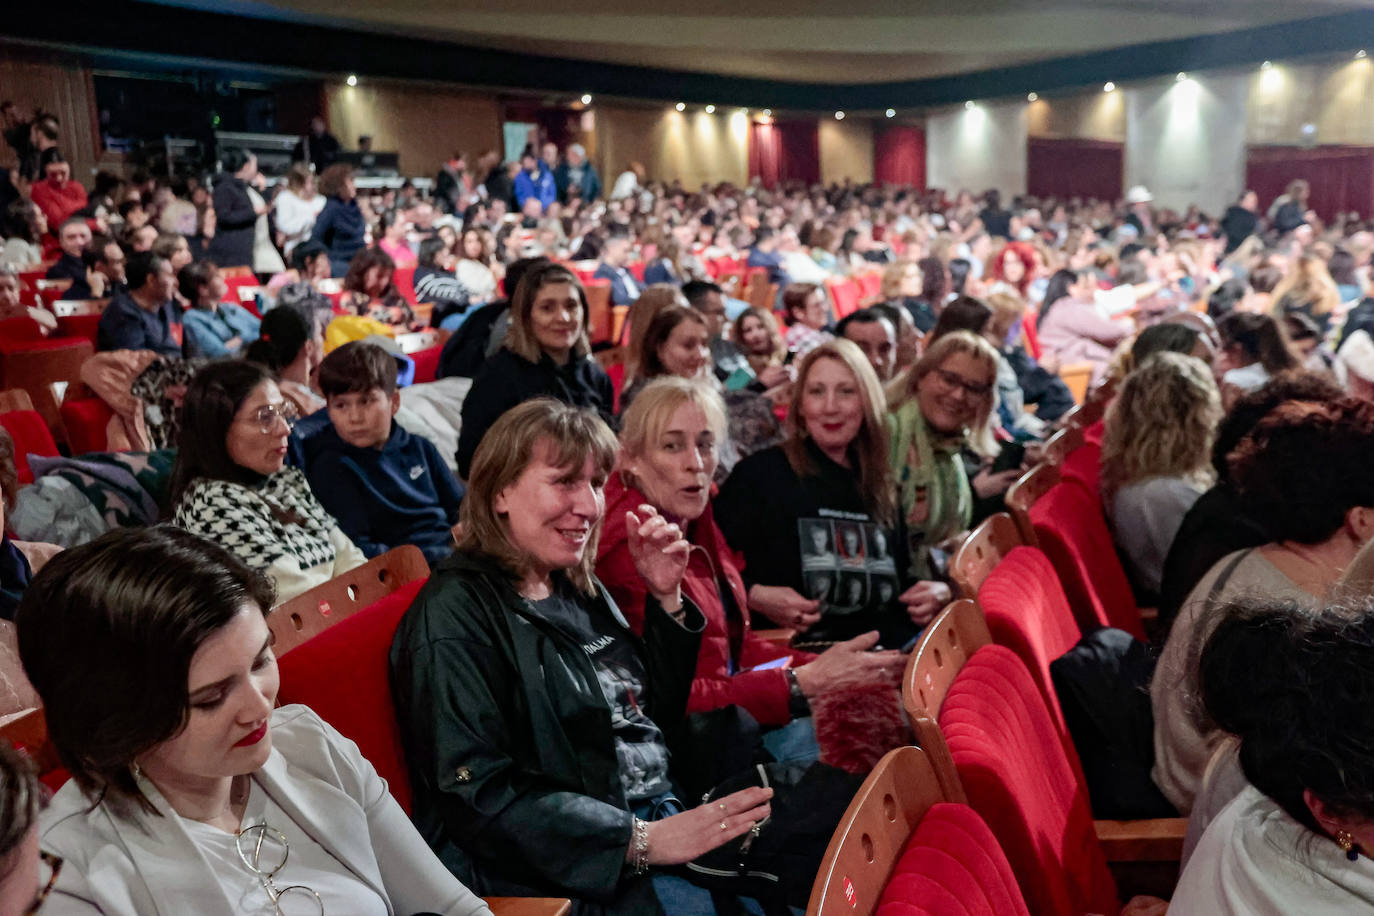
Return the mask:
{"type": "MultiPolygon", "coordinates": [[[[1087,448],[1074,449],[1069,459],[1087,448]]],[[[1145,639],[1131,582],[1116,555],[1098,500],[1076,481],[1063,481],[1036,500],[1029,515],[1079,626],[1116,626],[1145,639]]]]}

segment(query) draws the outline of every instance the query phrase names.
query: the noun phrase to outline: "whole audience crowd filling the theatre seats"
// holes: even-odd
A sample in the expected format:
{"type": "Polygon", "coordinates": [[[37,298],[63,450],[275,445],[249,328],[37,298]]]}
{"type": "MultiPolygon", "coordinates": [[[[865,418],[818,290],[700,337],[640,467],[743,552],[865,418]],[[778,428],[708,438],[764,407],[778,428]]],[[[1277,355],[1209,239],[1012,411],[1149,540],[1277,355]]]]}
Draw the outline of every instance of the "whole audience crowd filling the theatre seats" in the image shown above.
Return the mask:
{"type": "Polygon", "coordinates": [[[785,794],[834,827],[835,736],[894,713],[952,551],[1085,398],[1101,547],[1160,608],[1173,905],[1374,904],[1374,222],[1304,181],[1213,218],[631,163],[603,199],[544,144],[455,151],[425,198],[360,190],[316,118],[275,185],[224,148],[88,188],[56,118],[4,117],[0,336],[63,339],[30,293],[95,301],[82,382],[139,405],[162,482],[154,525],[5,527],[0,618],[71,779],[40,810],[0,746],[0,913],[804,908],[709,864],[785,794]],[[409,818],[276,707],[265,622],[401,545],[433,570],[389,656],[409,818]]]}

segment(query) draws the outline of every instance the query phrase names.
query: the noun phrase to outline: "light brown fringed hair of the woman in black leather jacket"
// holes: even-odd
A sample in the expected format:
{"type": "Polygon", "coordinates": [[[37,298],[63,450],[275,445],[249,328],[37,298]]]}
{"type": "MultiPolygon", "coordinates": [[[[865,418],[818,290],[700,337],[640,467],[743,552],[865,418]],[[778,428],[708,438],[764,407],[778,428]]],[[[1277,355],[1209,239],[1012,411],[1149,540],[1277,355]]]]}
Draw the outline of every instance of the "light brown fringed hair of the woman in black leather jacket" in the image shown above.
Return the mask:
{"type": "MultiPolygon", "coordinates": [[[[496,497],[514,485],[536,459],[554,467],[581,468],[592,459],[602,478],[616,466],[618,444],[610,427],[587,408],[554,398],[532,398],[513,407],[492,424],[473,456],[467,494],[458,511],[462,534],[458,549],[486,556],[503,566],[513,578],[529,569],[529,555],[511,542],[510,529],[496,511],[496,497]]],[[[583,562],[565,570],[580,591],[596,593],[592,570],[602,519],[592,523],[583,562]]]]}

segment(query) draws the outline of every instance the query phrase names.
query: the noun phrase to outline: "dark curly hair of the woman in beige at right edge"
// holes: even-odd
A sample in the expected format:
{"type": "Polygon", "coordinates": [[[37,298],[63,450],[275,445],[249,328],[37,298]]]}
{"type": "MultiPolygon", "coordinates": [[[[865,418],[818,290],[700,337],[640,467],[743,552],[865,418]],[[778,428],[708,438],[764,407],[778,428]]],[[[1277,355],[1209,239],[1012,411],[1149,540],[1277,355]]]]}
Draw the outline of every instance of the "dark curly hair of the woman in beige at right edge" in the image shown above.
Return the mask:
{"type": "Polygon", "coordinates": [[[1228,457],[1250,516],[1274,540],[1316,544],[1356,507],[1374,507],[1374,404],[1289,401],[1260,420],[1228,457]]]}

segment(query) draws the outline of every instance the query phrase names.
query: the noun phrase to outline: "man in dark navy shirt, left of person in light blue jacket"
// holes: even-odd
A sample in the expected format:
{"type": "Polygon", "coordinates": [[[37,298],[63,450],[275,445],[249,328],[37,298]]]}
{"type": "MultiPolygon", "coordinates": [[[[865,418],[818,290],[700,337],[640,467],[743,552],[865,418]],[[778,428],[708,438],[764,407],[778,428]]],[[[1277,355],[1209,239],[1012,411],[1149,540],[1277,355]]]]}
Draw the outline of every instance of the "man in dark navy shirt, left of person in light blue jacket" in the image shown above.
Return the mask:
{"type": "Polygon", "coordinates": [[[148,251],[125,266],[129,291],[110,297],[96,327],[98,350],[153,350],[181,357],[181,309],[172,298],[172,262],[148,251]]]}

